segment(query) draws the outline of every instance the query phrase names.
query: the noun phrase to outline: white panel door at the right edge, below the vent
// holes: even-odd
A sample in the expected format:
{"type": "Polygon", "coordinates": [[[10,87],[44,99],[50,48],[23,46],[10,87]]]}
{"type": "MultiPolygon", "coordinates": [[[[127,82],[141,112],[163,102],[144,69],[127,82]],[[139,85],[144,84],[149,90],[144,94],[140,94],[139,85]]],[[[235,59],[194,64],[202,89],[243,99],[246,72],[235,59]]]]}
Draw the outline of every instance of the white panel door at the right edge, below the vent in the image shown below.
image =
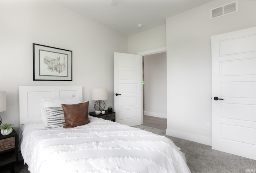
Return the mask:
{"type": "Polygon", "coordinates": [[[256,27],[212,36],[212,149],[256,159],[256,27]]]}

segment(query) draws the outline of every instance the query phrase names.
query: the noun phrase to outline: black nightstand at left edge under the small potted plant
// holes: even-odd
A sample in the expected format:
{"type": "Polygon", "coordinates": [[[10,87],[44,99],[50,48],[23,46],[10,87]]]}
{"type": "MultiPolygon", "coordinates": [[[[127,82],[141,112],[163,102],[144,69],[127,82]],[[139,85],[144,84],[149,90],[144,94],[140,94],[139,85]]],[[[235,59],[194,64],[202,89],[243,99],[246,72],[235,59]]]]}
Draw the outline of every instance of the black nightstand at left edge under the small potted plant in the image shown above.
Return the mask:
{"type": "Polygon", "coordinates": [[[15,130],[6,136],[0,134],[0,167],[9,165],[11,173],[14,173],[13,163],[18,161],[18,135],[15,130]]]}

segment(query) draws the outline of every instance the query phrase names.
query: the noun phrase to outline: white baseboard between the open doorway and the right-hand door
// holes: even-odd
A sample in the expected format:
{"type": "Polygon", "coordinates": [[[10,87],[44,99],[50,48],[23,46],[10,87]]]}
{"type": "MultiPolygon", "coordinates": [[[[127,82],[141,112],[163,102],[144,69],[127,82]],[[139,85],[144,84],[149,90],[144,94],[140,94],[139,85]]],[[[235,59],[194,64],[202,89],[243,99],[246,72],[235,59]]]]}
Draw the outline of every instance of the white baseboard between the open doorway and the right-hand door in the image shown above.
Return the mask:
{"type": "Polygon", "coordinates": [[[172,129],[166,129],[166,135],[212,146],[212,138],[206,138],[204,136],[198,136],[198,135],[189,134],[185,132],[179,132],[172,129]]]}

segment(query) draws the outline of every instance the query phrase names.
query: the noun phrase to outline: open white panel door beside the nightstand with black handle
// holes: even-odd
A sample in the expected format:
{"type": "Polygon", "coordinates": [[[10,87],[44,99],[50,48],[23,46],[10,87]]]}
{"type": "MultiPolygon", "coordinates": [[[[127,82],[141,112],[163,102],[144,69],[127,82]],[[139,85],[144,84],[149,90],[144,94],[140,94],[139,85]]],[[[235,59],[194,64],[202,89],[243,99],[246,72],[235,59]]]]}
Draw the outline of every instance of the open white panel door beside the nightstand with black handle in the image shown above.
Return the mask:
{"type": "Polygon", "coordinates": [[[140,55],[114,53],[114,110],[116,122],[128,126],[141,124],[140,55]]]}

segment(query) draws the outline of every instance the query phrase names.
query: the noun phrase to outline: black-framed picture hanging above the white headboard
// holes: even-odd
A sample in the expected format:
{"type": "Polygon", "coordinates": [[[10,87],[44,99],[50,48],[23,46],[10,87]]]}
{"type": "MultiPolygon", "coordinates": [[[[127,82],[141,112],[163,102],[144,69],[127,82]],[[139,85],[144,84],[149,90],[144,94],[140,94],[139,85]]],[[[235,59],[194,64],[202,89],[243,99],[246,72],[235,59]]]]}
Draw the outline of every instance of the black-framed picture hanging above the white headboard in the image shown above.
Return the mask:
{"type": "Polygon", "coordinates": [[[33,43],[33,81],[72,81],[72,51],[33,43]]]}

